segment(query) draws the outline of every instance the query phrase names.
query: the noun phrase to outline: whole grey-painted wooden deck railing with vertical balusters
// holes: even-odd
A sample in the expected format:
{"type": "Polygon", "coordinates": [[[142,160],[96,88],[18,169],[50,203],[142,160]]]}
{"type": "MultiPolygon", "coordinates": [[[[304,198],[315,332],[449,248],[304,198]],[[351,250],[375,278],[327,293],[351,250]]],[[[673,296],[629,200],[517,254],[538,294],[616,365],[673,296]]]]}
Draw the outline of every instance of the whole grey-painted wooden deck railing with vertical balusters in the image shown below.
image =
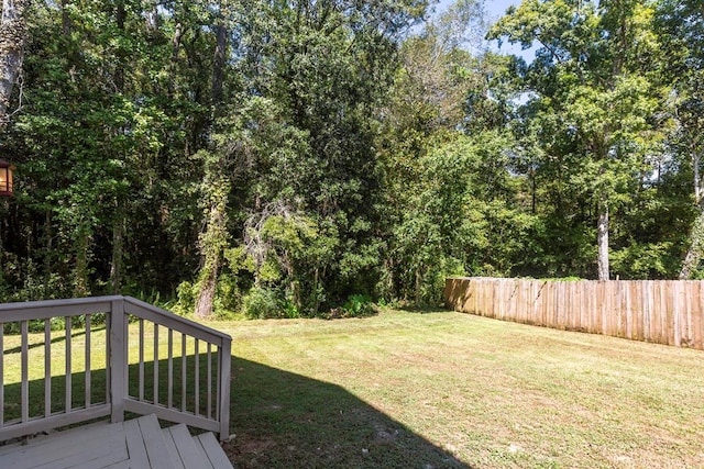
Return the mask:
{"type": "Polygon", "coordinates": [[[0,442],[125,412],[229,436],[231,337],[151,304],[0,304],[0,442]]]}

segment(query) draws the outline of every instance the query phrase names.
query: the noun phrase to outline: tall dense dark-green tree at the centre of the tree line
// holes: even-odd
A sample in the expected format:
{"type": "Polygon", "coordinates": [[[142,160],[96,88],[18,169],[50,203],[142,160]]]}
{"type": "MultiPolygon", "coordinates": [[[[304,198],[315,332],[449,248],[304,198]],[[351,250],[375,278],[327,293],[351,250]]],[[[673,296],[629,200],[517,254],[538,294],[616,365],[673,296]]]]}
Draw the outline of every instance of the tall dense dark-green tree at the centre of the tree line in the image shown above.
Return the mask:
{"type": "Polygon", "coordinates": [[[260,284],[307,313],[376,282],[382,181],[375,137],[398,43],[426,5],[248,4],[260,14],[242,33],[237,66],[248,82],[240,107],[250,114],[227,136],[234,158],[249,161],[241,177],[252,223],[242,239],[266,241],[248,243],[272,247],[270,261],[256,264],[268,269],[255,273],[270,279],[260,284]],[[266,153],[275,138],[279,148],[266,153]],[[254,226],[262,236],[248,235],[254,226]],[[272,270],[277,273],[265,275],[272,270]]]}

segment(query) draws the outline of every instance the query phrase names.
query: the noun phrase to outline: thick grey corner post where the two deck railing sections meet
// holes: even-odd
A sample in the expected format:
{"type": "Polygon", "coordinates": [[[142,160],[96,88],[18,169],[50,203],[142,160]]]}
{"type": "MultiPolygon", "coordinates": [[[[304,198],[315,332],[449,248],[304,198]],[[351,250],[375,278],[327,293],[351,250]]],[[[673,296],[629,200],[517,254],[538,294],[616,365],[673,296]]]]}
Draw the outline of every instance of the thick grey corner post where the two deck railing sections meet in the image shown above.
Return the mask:
{"type": "Polygon", "coordinates": [[[120,297],[110,302],[110,405],[112,423],[124,420],[124,395],[127,383],[127,343],[125,343],[124,299],[120,297]]]}

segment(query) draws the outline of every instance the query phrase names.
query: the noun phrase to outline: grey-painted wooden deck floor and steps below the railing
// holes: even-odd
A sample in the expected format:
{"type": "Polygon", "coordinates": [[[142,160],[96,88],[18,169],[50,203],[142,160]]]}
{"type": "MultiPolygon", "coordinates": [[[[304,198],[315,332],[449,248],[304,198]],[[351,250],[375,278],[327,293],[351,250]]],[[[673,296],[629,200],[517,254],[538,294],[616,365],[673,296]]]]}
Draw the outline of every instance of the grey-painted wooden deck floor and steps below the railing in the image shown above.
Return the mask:
{"type": "Polygon", "coordinates": [[[156,416],[146,415],[2,446],[0,468],[232,469],[232,464],[212,433],[191,437],[183,424],[161,428],[156,416]]]}

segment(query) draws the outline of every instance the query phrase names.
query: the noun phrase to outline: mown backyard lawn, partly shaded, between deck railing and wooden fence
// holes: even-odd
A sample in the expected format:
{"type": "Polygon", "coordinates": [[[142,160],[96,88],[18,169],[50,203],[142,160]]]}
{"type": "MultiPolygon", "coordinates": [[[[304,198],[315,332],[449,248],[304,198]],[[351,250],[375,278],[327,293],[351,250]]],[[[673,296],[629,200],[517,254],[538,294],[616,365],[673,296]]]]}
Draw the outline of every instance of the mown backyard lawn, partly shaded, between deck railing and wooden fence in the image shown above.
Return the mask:
{"type": "Polygon", "coordinates": [[[210,325],[238,468],[704,467],[702,351],[452,312],[210,325]]]}

